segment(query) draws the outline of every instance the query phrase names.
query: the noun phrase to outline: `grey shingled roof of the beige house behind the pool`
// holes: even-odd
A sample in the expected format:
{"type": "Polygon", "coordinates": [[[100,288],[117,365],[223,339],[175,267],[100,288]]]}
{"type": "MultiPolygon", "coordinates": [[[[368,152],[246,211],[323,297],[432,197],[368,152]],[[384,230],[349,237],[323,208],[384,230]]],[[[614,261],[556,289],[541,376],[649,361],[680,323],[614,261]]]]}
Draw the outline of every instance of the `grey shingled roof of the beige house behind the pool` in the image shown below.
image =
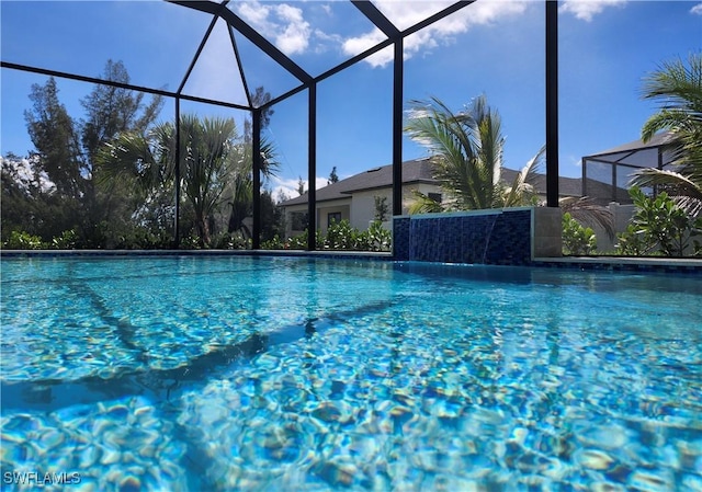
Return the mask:
{"type": "MultiPolygon", "coordinates": [[[[502,169],[502,180],[512,182],[519,171],[513,169],[502,169]]],[[[403,162],[403,184],[428,183],[437,184],[431,172],[431,162],[428,158],[415,159],[403,162]]],[[[332,199],[348,198],[355,192],[369,190],[387,188],[393,185],[393,165],[372,168],[359,174],[354,174],[344,180],[329,184],[317,190],[317,202],[328,202],[332,199]]],[[[534,182],[537,193],[546,193],[546,176],[539,174],[534,182]]],[[[558,178],[558,194],[561,196],[580,196],[582,192],[581,180],[578,178],[558,178]]],[[[307,194],[287,199],[281,203],[282,206],[302,205],[307,203],[307,194]]]]}

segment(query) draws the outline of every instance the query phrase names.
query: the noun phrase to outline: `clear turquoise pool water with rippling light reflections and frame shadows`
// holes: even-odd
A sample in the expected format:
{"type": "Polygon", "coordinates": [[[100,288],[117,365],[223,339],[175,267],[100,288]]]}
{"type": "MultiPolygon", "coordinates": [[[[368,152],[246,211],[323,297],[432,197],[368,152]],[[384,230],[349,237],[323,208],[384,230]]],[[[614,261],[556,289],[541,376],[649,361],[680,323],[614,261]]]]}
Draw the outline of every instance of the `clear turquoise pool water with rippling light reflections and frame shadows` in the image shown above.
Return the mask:
{"type": "Polygon", "coordinates": [[[702,490],[700,277],[1,266],[3,488],[702,490]]]}

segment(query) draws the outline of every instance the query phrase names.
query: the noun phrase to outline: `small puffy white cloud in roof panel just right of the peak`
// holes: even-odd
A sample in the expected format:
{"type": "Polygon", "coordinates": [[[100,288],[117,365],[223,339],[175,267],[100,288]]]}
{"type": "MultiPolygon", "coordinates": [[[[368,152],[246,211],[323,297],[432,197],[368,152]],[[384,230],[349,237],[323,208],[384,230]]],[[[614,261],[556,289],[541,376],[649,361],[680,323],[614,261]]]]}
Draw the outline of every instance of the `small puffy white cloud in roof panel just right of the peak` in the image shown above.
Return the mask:
{"type": "Polygon", "coordinates": [[[312,27],[302,9],[287,3],[263,4],[259,1],[237,2],[236,10],[262,36],[285,55],[304,53],[309,46],[312,27]]]}

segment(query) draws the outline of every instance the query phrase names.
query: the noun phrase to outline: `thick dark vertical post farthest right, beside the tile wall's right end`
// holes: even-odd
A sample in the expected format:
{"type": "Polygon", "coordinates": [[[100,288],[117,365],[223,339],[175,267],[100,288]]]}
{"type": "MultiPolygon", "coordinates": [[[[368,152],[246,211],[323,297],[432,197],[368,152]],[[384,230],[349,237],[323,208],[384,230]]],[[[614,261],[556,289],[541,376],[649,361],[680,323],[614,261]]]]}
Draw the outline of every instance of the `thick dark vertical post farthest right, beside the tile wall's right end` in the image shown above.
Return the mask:
{"type": "Polygon", "coordinates": [[[546,0],[546,206],[558,206],[558,2],[546,0]]]}

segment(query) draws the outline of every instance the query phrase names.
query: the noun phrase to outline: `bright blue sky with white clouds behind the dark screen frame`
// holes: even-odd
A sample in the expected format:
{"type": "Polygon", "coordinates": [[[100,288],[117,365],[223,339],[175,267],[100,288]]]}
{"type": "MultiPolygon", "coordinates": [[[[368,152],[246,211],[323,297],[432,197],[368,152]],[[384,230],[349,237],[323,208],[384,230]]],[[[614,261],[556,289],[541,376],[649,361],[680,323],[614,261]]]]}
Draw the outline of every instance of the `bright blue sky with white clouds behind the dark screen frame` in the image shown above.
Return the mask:
{"type": "MultiPolygon", "coordinates": [[[[375,1],[400,28],[451,2],[375,1]]],[[[233,1],[229,8],[312,76],[373,46],[383,35],[348,1],[233,1]]],[[[478,0],[405,41],[404,101],[438,98],[461,111],[485,95],[502,118],[505,165],[523,167],[545,142],[544,2],[478,0]]],[[[136,85],[237,104],[244,85],[226,26],[218,21],[185,78],[211,16],[159,1],[1,0],[2,61],[100,77],[122,60],[136,85]]],[[[562,0],[558,11],[559,173],[580,176],[582,156],[636,140],[657,106],[642,98],[643,80],[664,62],[702,50],[702,2],[562,0]]],[[[239,33],[237,48],[250,90],[274,98],[299,82],[239,33]]],[[[0,73],[0,153],[26,156],[33,145],[24,112],[33,83],[46,77],[3,68],[0,73]]],[[[57,79],[69,114],[83,117],[89,83],[57,79]]],[[[333,167],[343,179],[392,162],[393,52],[385,49],[321,81],[317,89],[317,176],[333,167]]],[[[264,135],[281,167],[265,183],[297,195],[307,182],[307,92],[274,106],[264,135]]],[[[184,102],[182,112],[234,117],[246,112],[184,102]]],[[[172,119],[165,102],[160,119],[172,119]]],[[[403,141],[404,160],[427,156],[403,141]]]]}

